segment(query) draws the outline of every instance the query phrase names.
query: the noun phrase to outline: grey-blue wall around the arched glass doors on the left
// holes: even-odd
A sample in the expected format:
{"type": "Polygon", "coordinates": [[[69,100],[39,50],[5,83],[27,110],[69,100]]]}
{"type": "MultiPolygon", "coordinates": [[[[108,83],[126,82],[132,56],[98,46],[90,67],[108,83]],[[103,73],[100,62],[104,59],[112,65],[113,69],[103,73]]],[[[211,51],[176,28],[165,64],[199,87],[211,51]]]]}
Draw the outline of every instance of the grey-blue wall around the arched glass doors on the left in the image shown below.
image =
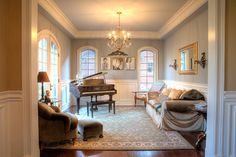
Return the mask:
{"type": "Polygon", "coordinates": [[[60,64],[61,64],[61,80],[70,79],[70,54],[71,54],[71,39],[59,27],[52,23],[44,14],[38,14],[38,32],[47,29],[51,31],[57,38],[60,46],[60,64]]]}

